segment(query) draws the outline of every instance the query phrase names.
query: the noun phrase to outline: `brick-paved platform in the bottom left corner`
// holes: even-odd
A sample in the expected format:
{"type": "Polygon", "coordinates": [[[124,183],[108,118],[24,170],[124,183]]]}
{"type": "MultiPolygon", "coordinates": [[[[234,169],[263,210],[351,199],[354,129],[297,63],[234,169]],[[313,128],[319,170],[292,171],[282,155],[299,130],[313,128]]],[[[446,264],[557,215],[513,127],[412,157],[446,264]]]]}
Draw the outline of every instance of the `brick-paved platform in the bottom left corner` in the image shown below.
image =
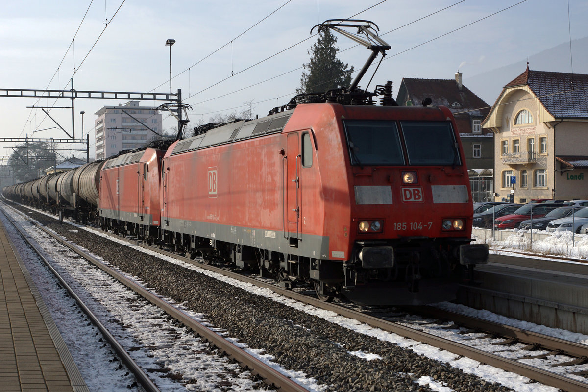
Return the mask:
{"type": "Polygon", "coordinates": [[[0,391],[87,391],[0,221],[0,391]]]}

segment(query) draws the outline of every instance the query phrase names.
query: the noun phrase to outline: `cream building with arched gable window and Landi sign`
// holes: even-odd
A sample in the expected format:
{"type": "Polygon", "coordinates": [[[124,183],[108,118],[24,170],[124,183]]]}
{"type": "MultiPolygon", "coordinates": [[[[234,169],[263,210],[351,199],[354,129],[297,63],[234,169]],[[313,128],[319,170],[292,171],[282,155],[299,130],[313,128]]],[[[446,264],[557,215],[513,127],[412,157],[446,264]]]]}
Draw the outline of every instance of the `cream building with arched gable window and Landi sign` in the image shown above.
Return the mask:
{"type": "Polygon", "coordinates": [[[482,128],[495,134],[495,200],[588,199],[588,75],[527,64],[482,128]]]}

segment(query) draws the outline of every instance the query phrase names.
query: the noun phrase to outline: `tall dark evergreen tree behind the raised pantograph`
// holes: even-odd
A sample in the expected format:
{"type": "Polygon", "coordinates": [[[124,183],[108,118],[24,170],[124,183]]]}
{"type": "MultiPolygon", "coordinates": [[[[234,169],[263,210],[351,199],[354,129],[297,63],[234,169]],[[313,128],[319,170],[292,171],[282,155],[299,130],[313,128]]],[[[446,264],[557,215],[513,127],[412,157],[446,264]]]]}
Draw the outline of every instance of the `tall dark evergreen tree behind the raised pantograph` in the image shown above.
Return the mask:
{"type": "Polygon", "coordinates": [[[349,87],[353,66],[347,69],[348,64],[337,58],[339,48],[336,46],[337,38],[330,29],[324,29],[319,33],[319,38],[312,45],[308,64],[304,64],[305,71],[300,78],[300,87],[296,93],[325,92],[333,88],[349,87]]]}

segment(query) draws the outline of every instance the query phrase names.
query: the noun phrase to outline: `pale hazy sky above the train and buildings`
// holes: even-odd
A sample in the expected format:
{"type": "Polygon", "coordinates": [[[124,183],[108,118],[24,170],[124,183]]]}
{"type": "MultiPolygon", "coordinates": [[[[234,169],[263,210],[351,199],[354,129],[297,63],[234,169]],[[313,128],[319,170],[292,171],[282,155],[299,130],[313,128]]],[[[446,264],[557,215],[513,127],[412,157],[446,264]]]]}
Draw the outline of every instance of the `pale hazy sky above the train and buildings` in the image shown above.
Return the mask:
{"type": "MultiPolygon", "coordinates": [[[[570,35],[572,40],[588,36],[586,0],[2,0],[0,89],[69,89],[73,76],[78,90],[169,92],[165,41],[172,38],[172,89],[181,88],[183,101],[193,108],[189,127],[216,113],[239,111],[251,100],[253,113],[265,116],[295,94],[316,41],[310,29],[325,19],[351,16],[375,22],[392,46],[369,89],[390,80],[395,97],[402,78],[453,79],[458,69],[467,86],[480,73],[520,62],[514,79],[527,56],[569,44],[570,35]]],[[[338,36],[338,46],[340,59],[355,69],[368,58],[366,48],[344,36],[338,36]]],[[[571,56],[553,59],[552,69],[542,70],[571,72],[573,64],[574,72],[588,73],[588,65],[573,58],[572,46],[571,56]]],[[[372,70],[360,83],[363,88],[372,70]]],[[[492,103],[502,84],[475,93],[492,103]]],[[[0,137],[67,137],[62,130],[42,130],[55,125],[40,109],[26,106],[70,106],[69,99],[0,99],[0,137]]],[[[84,110],[91,156],[93,113],[125,102],[75,100],[76,138],[84,110]]],[[[71,133],[71,109],[50,114],[71,133]]],[[[165,128],[175,125],[164,118],[165,128]]],[[[0,155],[9,155],[5,147],[14,143],[0,145],[0,155]]]]}

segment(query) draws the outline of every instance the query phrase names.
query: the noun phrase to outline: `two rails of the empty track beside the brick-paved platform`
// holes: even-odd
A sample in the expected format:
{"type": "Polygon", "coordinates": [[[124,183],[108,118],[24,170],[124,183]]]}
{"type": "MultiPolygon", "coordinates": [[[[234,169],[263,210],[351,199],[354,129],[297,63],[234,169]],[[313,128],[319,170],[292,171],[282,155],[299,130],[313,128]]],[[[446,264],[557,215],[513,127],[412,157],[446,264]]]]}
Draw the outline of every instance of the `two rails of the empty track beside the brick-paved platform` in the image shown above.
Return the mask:
{"type": "MultiPolygon", "coordinates": [[[[22,214],[21,214],[22,215],[22,214]]],[[[190,316],[185,311],[178,309],[178,307],[173,306],[173,304],[165,301],[158,296],[157,294],[153,294],[149,290],[145,289],[141,284],[136,283],[134,280],[129,279],[124,274],[119,273],[115,269],[107,266],[105,263],[101,262],[101,260],[96,259],[88,252],[80,249],[75,244],[68,242],[67,240],[63,239],[62,237],[58,236],[57,234],[51,232],[51,230],[46,229],[44,226],[39,225],[38,223],[31,220],[26,215],[22,215],[26,219],[29,219],[35,226],[39,227],[39,229],[43,230],[45,233],[49,234],[49,236],[53,237],[58,242],[64,244],[64,246],[68,247],[69,249],[73,250],[75,253],[82,256],[84,259],[88,260],[99,269],[103,270],[105,273],[108,273],[110,276],[114,277],[119,282],[123,283],[126,287],[133,290],[135,293],[139,294],[155,306],[159,307],[165,313],[169,314],[169,316],[173,317],[174,319],[178,320],[181,324],[187,327],[189,330],[194,331],[196,334],[202,337],[202,339],[208,341],[213,346],[215,346],[220,352],[228,356],[230,359],[237,361],[240,366],[246,370],[249,370],[251,373],[255,374],[256,376],[260,377],[269,387],[276,388],[276,390],[285,391],[285,392],[308,392],[303,386],[295,383],[295,381],[291,380],[285,374],[280,373],[279,371],[275,370],[273,367],[269,366],[269,364],[264,363],[263,361],[259,360],[257,357],[249,354],[232,341],[224,339],[215,331],[212,331],[204,324],[200,323],[199,321],[195,320],[192,316],[190,316]]],[[[105,339],[111,344],[111,346],[116,350],[116,353],[121,357],[121,359],[125,362],[126,366],[129,367],[129,370],[135,374],[135,377],[141,383],[141,386],[148,392],[156,392],[159,391],[159,388],[153,383],[151,378],[145,373],[145,371],[135,363],[132,359],[131,355],[125,350],[115,337],[109,333],[108,329],[103,326],[103,324],[98,320],[91,310],[85,306],[83,301],[76,295],[74,290],[68,286],[65,280],[59,276],[59,273],[51,266],[51,264],[42,256],[42,250],[38,249],[38,246],[28,240],[26,235],[18,228],[16,223],[11,220],[14,224],[16,230],[21,234],[21,236],[25,239],[25,241],[35,250],[39,257],[41,257],[46,265],[51,269],[51,271],[55,274],[59,282],[65,287],[68,293],[75,298],[76,302],[78,302],[79,307],[81,307],[88,315],[88,317],[92,320],[92,322],[99,327],[101,333],[105,337],[105,339]]]]}

